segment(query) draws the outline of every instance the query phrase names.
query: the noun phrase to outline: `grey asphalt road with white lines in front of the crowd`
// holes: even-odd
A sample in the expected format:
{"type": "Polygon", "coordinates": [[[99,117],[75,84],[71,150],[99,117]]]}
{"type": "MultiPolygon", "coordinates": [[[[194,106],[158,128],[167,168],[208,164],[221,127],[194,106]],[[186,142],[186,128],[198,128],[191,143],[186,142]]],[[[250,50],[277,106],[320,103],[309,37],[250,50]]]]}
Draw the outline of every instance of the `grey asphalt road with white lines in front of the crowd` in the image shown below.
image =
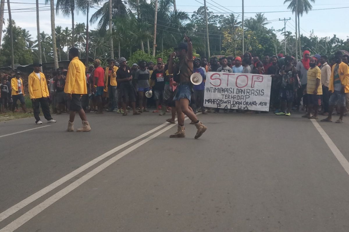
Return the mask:
{"type": "Polygon", "coordinates": [[[170,139],[166,115],[87,117],[0,123],[0,232],[349,231],[349,118],[211,113],[170,139]]]}

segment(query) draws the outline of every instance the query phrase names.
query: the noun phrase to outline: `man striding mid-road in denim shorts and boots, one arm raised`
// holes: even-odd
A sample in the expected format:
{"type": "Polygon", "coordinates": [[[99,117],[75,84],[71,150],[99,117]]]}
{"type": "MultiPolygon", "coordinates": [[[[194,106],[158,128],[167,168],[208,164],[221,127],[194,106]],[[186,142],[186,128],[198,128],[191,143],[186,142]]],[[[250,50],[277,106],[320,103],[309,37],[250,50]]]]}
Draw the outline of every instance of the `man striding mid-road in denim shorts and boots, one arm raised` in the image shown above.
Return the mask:
{"type": "Polygon", "coordinates": [[[178,118],[178,130],[170,138],[184,138],[185,128],[184,128],[184,114],[194,122],[197,131],[195,139],[199,138],[206,130],[207,127],[203,125],[193,111],[189,109],[189,103],[191,99],[191,81],[190,76],[193,74],[193,44],[189,37],[185,36],[186,42],[181,42],[176,48],[176,52],[172,53],[169,60],[169,74],[173,74],[173,59],[178,56],[179,64],[176,65],[174,70],[178,70],[178,73],[174,75],[179,76],[179,85],[176,90],[176,95],[174,95],[173,100],[176,101],[176,110],[178,118]]]}

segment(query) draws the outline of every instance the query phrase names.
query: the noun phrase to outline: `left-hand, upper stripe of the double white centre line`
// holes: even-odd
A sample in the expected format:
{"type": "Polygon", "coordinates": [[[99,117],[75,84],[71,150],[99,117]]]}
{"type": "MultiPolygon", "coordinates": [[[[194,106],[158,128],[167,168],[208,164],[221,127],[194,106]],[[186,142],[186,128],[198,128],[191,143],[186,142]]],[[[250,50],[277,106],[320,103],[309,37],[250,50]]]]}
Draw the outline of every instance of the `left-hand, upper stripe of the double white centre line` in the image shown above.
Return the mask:
{"type": "MultiPolygon", "coordinates": [[[[29,205],[31,202],[37,200],[38,198],[42,197],[43,195],[45,195],[46,193],[50,192],[51,190],[57,188],[59,185],[67,182],[69,179],[73,178],[74,176],[82,173],[84,170],[88,169],[89,167],[95,165],[96,163],[98,163],[99,161],[103,160],[104,158],[108,157],[109,155],[112,155],[113,153],[123,149],[124,147],[138,141],[141,138],[144,138],[145,136],[148,136],[149,134],[153,133],[154,131],[157,131],[158,129],[164,127],[165,125],[168,125],[168,122],[165,122],[163,124],[161,124],[160,126],[155,127],[152,130],[149,130],[148,132],[134,138],[131,139],[130,141],[121,144],[117,147],[115,147],[114,149],[107,151],[106,153],[102,154],[101,156],[91,160],[90,162],[86,163],[85,165],[81,166],[80,168],[77,168],[76,170],[72,171],[71,173],[67,174],[66,176],[58,179],[57,181],[53,182],[52,184],[44,187],[42,190],[39,190],[38,192],[32,194],[31,196],[25,198],[24,200],[18,202],[16,205],[8,208],[7,210],[3,211],[0,214],[0,222],[3,221],[4,219],[6,219],[7,217],[11,216],[12,214],[16,213],[18,210],[22,209],[23,207],[29,205]]],[[[173,124],[174,125],[174,124],[173,124]]],[[[48,126],[45,126],[48,127],[48,126]]],[[[38,127],[39,128],[39,127],[38,127]]],[[[37,129],[37,128],[35,128],[37,129]]]]}

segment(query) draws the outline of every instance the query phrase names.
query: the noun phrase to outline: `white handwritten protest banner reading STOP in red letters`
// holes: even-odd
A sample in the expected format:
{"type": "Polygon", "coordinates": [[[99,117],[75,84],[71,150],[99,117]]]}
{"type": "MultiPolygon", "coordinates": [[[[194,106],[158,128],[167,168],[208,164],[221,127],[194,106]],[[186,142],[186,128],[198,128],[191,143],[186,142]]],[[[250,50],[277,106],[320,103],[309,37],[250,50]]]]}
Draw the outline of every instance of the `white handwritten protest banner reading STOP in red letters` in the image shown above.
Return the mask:
{"type": "Polygon", "coordinates": [[[208,72],[204,106],[269,111],[270,75],[208,72]]]}

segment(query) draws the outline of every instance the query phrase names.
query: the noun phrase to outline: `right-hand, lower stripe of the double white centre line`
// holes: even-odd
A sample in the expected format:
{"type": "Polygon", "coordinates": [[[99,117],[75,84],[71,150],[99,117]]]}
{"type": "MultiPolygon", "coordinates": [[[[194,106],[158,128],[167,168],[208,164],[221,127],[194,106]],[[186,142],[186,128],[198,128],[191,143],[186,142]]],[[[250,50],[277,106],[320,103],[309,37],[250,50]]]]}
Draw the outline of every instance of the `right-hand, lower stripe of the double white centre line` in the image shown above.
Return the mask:
{"type": "Polygon", "coordinates": [[[114,156],[111,159],[105,161],[104,163],[102,163],[101,165],[99,165],[98,167],[96,167],[95,169],[90,171],[89,173],[85,174],[81,178],[79,178],[76,181],[74,181],[73,183],[69,184],[64,189],[62,189],[59,192],[55,193],[54,195],[52,195],[51,197],[47,198],[45,201],[43,201],[39,205],[37,205],[34,208],[32,208],[31,210],[29,210],[27,213],[25,213],[22,216],[18,217],[16,220],[11,222],[7,226],[3,227],[0,230],[0,232],[12,232],[12,231],[18,229],[20,226],[22,226],[24,223],[28,222],[31,218],[35,217],[37,214],[39,214],[44,209],[46,209],[47,207],[52,205],[54,202],[58,201],[59,199],[61,199],[65,195],[67,195],[69,192],[73,191],[74,189],[79,187],[81,184],[83,184],[84,182],[88,181],[91,177],[97,175],[99,172],[101,172],[102,170],[104,170],[108,166],[112,165],[114,162],[116,162],[120,158],[124,157],[125,155],[127,155],[130,152],[132,152],[133,150],[137,149],[138,147],[140,147],[144,143],[147,143],[151,139],[161,135],[166,130],[169,130],[170,128],[172,128],[175,125],[176,124],[170,124],[169,126],[165,127],[164,129],[159,130],[154,135],[151,135],[148,138],[145,138],[145,139],[141,140],[140,142],[134,144],[133,146],[131,146],[128,149],[126,149],[125,151],[120,152],[116,156],[114,156]]]}

